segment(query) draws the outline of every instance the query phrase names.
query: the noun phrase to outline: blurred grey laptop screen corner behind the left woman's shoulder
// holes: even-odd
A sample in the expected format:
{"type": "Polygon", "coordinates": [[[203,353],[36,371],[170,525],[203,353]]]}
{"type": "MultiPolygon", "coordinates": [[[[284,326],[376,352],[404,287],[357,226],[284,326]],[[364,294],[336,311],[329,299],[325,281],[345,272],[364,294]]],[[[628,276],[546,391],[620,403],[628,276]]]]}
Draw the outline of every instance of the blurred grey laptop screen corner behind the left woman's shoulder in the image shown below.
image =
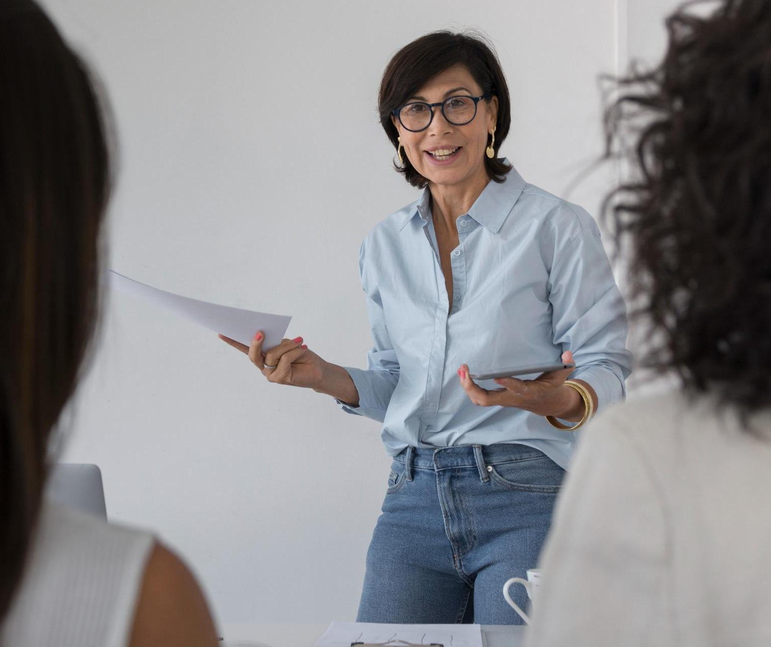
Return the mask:
{"type": "Polygon", "coordinates": [[[87,463],[56,463],[51,466],[45,497],[49,501],[107,518],[102,472],[87,463]]]}

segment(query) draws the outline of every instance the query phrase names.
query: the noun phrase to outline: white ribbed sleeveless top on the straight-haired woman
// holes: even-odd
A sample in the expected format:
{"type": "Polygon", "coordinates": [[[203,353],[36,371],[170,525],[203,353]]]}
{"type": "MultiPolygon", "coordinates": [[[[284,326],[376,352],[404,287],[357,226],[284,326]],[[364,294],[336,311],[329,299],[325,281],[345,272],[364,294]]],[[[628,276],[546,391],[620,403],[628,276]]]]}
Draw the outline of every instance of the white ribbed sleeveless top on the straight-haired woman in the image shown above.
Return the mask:
{"type": "Polygon", "coordinates": [[[2,645],[124,647],[154,538],[64,506],[42,506],[2,645]]]}

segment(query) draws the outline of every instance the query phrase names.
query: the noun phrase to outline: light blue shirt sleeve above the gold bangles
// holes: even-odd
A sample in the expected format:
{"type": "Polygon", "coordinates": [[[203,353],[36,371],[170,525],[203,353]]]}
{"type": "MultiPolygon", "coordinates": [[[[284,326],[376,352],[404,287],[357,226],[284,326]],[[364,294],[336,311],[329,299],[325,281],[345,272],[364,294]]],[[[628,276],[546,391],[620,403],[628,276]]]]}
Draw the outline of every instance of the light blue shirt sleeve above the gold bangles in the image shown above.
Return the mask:
{"type": "Polygon", "coordinates": [[[573,352],[577,368],[571,379],[591,384],[598,408],[604,408],[624,399],[631,374],[626,304],[597,224],[583,210],[573,215],[581,226],[554,239],[549,278],[554,344],[573,352]]]}

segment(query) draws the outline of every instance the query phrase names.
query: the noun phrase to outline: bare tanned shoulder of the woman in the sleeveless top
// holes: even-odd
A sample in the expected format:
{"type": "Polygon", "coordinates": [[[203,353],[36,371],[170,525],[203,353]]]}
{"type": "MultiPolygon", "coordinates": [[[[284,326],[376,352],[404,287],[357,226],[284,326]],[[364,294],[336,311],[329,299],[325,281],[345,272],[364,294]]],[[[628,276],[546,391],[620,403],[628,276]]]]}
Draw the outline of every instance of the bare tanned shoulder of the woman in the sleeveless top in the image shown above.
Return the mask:
{"type": "Polygon", "coordinates": [[[168,548],[156,544],[147,561],[129,647],[213,647],[209,608],[193,573],[168,548]]]}

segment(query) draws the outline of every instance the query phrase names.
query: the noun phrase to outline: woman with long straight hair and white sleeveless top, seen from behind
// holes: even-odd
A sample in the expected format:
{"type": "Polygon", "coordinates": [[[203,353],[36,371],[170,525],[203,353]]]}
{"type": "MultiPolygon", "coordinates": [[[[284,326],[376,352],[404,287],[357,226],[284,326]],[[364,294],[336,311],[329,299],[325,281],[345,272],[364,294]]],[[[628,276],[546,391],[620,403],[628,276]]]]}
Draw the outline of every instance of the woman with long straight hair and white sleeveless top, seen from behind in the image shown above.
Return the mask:
{"type": "Polygon", "coordinates": [[[216,645],[188,569],[152,535],[45,503],[49,437],[99,311],[103,110],[32,0],[0,2],[0,643],[216,645]]]}

